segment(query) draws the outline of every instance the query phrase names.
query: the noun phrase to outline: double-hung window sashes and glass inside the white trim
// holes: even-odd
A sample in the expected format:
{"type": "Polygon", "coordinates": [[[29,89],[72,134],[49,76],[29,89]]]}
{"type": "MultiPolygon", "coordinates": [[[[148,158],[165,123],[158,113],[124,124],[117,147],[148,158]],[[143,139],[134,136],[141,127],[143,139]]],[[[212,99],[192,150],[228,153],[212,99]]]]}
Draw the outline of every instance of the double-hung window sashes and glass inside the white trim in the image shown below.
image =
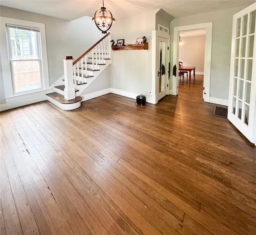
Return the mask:
{"type": "Polygon", "coordinates": [[[13,93],[42,89],[39,29],[6,28],[13,93]]]}

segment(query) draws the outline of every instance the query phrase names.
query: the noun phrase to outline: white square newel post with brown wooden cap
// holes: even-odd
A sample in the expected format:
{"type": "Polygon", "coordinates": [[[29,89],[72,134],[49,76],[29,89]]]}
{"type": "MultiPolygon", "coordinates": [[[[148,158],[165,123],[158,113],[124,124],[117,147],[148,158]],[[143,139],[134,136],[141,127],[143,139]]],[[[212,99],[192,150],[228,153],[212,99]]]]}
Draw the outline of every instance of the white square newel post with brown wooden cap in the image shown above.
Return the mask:
{"type": "Polygon", "coordinates": [[[75,85],[74,85],[74,75],[73,75],[73,57],[64,56],[64,98],[66,100],[71,100],[76,98],[75,85]]]}

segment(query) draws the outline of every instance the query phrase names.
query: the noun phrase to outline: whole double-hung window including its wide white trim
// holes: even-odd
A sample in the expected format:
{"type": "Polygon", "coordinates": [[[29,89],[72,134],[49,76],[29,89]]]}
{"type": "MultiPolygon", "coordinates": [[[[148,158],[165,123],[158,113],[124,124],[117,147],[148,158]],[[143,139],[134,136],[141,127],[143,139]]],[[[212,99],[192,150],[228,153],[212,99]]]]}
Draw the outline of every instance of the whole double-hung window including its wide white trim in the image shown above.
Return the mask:
{"type": "Polygon", "coordinates": [[[5,99],[49,88],[44,24],[1,17],[5,99]]]}

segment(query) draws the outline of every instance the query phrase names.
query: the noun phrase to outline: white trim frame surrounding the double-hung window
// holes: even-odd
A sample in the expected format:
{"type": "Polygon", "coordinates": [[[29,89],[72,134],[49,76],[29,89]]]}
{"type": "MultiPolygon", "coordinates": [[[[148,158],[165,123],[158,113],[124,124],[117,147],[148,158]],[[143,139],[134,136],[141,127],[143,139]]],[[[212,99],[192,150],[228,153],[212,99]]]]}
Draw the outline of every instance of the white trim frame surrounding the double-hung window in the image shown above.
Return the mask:
{"type": "MultiPolygon", "coordinates": [[[[37,22],[30,22],[26,20],[18,20],[18,19],[0,16],[0,42],[1,42],[0,49],[1,49],[2,72],[3,72],[4,92],[5,92],[4,99],[11,99],[17,96],[13,94],[13,90],[12,90],[12,77],[11,77],[10,61],[9,61],[9,55],[8,55],[8,44],[7,44],[8,39],[6,35],[6,24],[14,24],[18,26],[27,26],[31,28],[40,29],[40,40],[41,40],[41,47],[42,47],[42,83],[43,83],[42,85],[44,89],[38,92],[48,90],[50,87],[50,82],[49,82],[49,72],[48,72],[45,25],[37,22]]],[[[18,96],[22,96],[22,95],[25,96],[28,94],[30,94],[30,92],[19,94],[18,96]]]]}

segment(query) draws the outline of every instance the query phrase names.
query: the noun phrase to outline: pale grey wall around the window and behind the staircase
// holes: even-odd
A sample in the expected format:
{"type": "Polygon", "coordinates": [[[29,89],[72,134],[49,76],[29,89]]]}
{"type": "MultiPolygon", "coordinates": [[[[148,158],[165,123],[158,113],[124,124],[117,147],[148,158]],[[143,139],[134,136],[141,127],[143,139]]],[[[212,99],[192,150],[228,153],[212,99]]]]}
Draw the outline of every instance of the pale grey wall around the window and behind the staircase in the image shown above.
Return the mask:
{"type": "MultiPolygon", "coordinates": [[[[87,16],[70,22],[4,6],[1,6],[0,16],[45,24],[50,85],[64,74],[63,56],[72,55],[76,59],[104,36],[87,16]]],[[[0,73],[2,77],[1,70],[0,73]]],[[[3,84],[0,85],[2,104],[5,100],[3,84]]]]}

